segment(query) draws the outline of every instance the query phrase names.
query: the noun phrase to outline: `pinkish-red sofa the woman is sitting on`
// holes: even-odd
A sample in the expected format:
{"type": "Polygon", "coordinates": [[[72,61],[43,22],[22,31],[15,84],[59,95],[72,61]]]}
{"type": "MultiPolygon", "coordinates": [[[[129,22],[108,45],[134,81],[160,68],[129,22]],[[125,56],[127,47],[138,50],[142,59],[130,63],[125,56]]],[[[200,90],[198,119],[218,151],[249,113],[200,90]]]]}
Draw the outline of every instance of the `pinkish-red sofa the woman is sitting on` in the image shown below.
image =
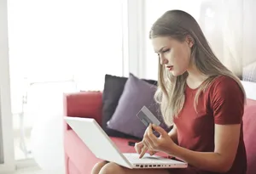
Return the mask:
{"type": "MultiPolygon", "coordinates": [[[[102,93],[81,92],[64,95],[64,112],[67,116],[94,118],[102,122],[102,93]]],[[[89,174],[96,162],[101,161],[90,152],[75,132],[64,121],[64,149],[66,174],[89,174]]],[[[84,131],[86,127],[84,127],[84,131]]],[[[247,149],[247,174],[256,174],[256,101],[247,100],[244,113],[244,140],[247,149]]],[[[121,152],[135,152],[128,145],[132,139],[111,138],[121,152]]],[[[166,155],[166,154],[160,154],[166,155]]]]}

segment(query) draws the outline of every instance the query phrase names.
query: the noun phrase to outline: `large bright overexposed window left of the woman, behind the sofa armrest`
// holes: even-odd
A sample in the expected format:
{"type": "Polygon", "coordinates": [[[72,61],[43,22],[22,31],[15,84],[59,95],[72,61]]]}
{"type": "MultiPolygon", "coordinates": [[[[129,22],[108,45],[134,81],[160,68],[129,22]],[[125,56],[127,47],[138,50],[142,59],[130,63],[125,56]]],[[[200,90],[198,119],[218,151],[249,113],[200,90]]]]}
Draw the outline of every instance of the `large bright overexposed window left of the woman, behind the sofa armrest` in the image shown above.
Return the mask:
{"type": "MultiPolygon", "coordinates": [[[[42,112],[49,115],[46,110],[62,111],[62,93],[102,90],[105,74],[124,74],[123,1],[8,3],[11,98],[17,137],[29,136],[42,112]]],[[[16,160],[30,157],[29,145],[20,139],[15,145],[16,160]]]]}

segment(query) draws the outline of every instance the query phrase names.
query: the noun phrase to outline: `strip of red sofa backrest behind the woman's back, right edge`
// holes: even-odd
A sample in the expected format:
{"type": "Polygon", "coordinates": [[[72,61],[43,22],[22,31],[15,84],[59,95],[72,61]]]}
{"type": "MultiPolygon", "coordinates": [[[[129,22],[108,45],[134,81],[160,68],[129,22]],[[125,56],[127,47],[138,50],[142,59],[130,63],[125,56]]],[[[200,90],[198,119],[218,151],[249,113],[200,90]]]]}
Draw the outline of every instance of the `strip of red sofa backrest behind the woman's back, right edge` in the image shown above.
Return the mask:
{"type": "Polygon", "coordinates": [[[256,173],[256,100],[247,99],[243,115],[243,135],[247,151],[247,174],[256,173]]]}

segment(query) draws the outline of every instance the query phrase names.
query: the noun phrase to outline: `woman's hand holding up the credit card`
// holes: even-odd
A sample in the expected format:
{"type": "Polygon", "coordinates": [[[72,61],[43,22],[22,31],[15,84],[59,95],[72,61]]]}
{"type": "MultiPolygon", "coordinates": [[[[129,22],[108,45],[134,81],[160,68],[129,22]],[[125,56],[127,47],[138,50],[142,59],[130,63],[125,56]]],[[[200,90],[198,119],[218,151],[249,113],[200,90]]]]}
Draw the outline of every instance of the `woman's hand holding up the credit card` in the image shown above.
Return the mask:
{"type": "Polygon", "coordinates": [[[172,141],[172,138],[169,137],[168,133],[162,127],[152,124],[148,126],[147,130],[144,133],[143,144],[145,148],[142,150],[140,158],[142,158],[143,155],[147,152],[147,149],[153,151],[162,151],[170,154],[170,152],[172,152],[172,149],[176,145],[172,141]],[[154,131],[160,133],[159,138],[155,137],[153,129],[154,131]]]}

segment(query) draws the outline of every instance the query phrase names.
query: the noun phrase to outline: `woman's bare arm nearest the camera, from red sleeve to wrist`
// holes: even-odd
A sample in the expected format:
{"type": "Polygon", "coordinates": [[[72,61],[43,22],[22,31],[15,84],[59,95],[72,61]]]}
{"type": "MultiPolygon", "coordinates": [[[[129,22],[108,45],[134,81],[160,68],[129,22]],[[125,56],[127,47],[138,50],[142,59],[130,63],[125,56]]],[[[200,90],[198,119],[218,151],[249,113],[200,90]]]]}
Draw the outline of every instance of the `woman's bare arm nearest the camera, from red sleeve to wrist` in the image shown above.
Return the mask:
{"type": "Polygon", "coordinates": [[[236,157],[236,151],[240,138],[241,125],[217,125],[215,124],[215,149],[214,152],[195,152],[184,149],[173,143],[170,147],[170,155],[184,160],[189,165],[206,171],[229,171],[236,157]]]}

